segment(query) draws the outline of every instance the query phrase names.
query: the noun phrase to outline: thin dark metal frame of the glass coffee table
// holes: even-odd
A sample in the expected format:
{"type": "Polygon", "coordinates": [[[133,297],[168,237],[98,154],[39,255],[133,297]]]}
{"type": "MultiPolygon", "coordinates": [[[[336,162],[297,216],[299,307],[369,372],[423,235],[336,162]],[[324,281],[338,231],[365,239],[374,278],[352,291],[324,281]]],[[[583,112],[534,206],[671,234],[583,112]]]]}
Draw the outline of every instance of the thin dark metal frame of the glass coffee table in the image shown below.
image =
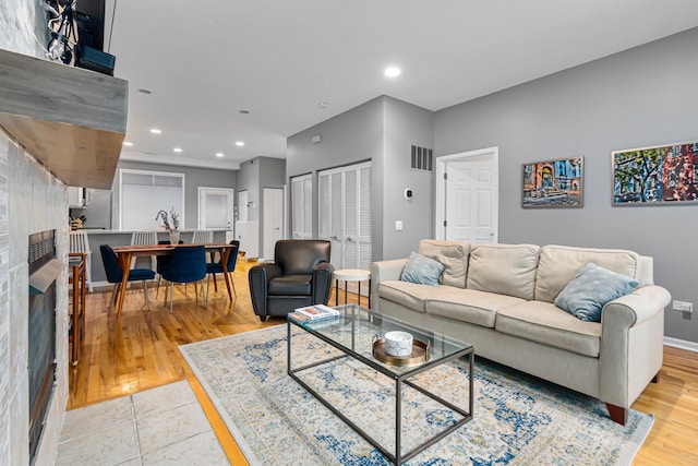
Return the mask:
{"type": "MultiPolygon", "coordinates": [[[[431,332],[424,332],[423,330],[418,330],[416,327],[410,326],[409,324],[406,324],[404,322],[398,321],[397,319],[394,318],[389,318],[389,316],[385,316],[385,315],[381,315],[378,313],[372,312],[365,308],[359,307],[357,304],[346,304],[346,306],[339,306],[336,309],[340,310],[342,312],[342,316],[339,318],[336,322],[337,325],[352,325],[352,330],[351,330],[351,347],[347,347],[345,345],[342,345],[341,343],[333,339],[330,336],[328,336],[326,334],[326,332],[322,332],[322,328],[326,328],[327,325],[330,325],[327,321],[324,322],[320,322],[323,325],[318,325],[317,330],[313,328],[313,323],[301,323],[301,322],[297,322],[292,319],[288,320],[288,351],[287,351],[287,372],[288,374],[296,380],[296,382],[298,382],[302,387],[304,387],[309,393],[311,393],[315,398],[317,398],[323,405],[325,405],[329,410],[332,410],[335,415],[337,415],[337,417],[339,417],[339,419],[341,419],[346,425],[348,425],[349,427],[351,427],[357,433],[359,433],[361,437],[363,437],[369,443],[371,443],[373,446],[375,446],[376,449],[378,449],[385,456],[387,456],[394,464],[396,465],[400,465],[402,464],[402,462],[409,461],[410,458],[414,457],[414,455],[417,455],[418,453],[422,452],[423,450],[428,449],[429,446],[433,445],[434,443],[438,442],[441,439],[443,439],[444,437],[448,435],[449,433],[452,433],[453,431],[455,431],[456,429],[458,429],[460,426],[467,423],[468,421],[470,421],[472,419],[472,410],[473,410],[473,383],[474,383],[474,378],[473,378],[473,366],[474,366],[474,351],[472,348],[472,345],[467,344],[467,343],[462,343],[462,342],[457,342],[453,338],[448,338],[448,337],[444,337],[443,335],[438,335],[438,334],[434,334],[431,332]],[[363,322],[362,322],[363,321],[363,322]],[[361,354],[359,351],[356,350],[356,330],[357,330],[357,324],[363,324],[363,325],[369,325],[370,327],[375,326],[376,332],[381,332],[383,327],[383,322],[385,322],[387,324],[387,326],[389,327],[389,330],[404,330],[406,332],[410,332],[413,335],[416,335],[416,338],[424,338],[424,337],[430,337],[431,338],[447,338],[450,345],[457,345],[459,346],[459,349],[453,350],[452,353],[448,353],[447,355],[441,356],[441,357],[433,357],[430,358],[429,361],[425,361],[423,363],[420,365],[414,365],[414,366],[410,366],[410,367],[397,367],[397,366],[390,366],[387,363],[383,363],[381,361],[378,361],[377,359],[375,359],[372,355],[366,355],[365,351],[364,354],[361,354]],[[302,367],[298,367],[298,368],[292,368],[291,367],[291,348],[292,348],[292,338],[291,338],[291,328],[292,326],[297,326],[300,328],[303,328],[305,332],[314,335],[315,337],[322,339],[323,342],[332,345],[333,347],[339,349],[342,355],[338,355],[335,357],[332,357],[329,359],[325,359],[322,361],[316,361],[306,366],[302,366],[302,367]],[[302,372],[304,370],[317,367],[317,366],[322,366],[338,359],[344,359],[347,357],[351,357],[358,361],[361,361],[362,363],[371,367],[372,369],[374,369],[375,371],[393,379],[395,381],[395,453],[388,452],[386,447],[384,447],[383,445],[381,445],[375,439],[373,439],[369,433],[366,433],[363,429],[361,429],[357,423],[354,423],[351,419],[349,419],[347,416],[345,416],[342,413],[340,413],[336,407],[334,407],[329,402],[327,402],[318,392],[316,392],[314,389],[312,389],[310,385],[308,385],[305,382],[303,382],[303,380],[301,380],[297,373],[302,372]],[[468,363],[469,363],[469,370],[468,370],[468,378],[469,378],[469,385],[468,385],[468,410],[465,410],[445,399],[443,399],[442,397],[429,392],[426,389],[423,389],[419,385],[417,385],[416,383],[413,383],[412,381],[410,381],[409,379],[413,378],[414,375],[428,371],[430,369],[433,369],[437,366],[441,366],[447,361],[450,361],[453,359],[456,358],[460,358],[460,357],[467,357],[468,358],[468,363]],[[401,419],[401,409],[402,409],[402,384],[408,385],[421,393],[423,393],[424,395],[429,396],[430,398],[434,399],[435,402],[442,404],[443,406],[446,406],[447,408],[458,413],[460,416],[462,416],[462,419],[458,420],[456,423],[452,425],[450,427],[446,428],[444,431],[437,433],[436,435],[432,437],[431,439],[428,439],[425,442],[421,443],[420,445],[416,446],[414,449],[412,449],[409,452],[406,452],[405,454],[401,453],[401,437],[402,437],[402,419],[401,419]]],[[[365,330],[365,328],[364,328],[365,330]]],[[[432,342],[433,343],[433,342],[432,342]]],[[[433,347],[433,344],[430,345],[430,347],[433,347]]],[[[365,348],[364,348],[365,349],[365,348]]],[[[430,351],[433,351],[433,348],[430,349],[430,351]]]]}

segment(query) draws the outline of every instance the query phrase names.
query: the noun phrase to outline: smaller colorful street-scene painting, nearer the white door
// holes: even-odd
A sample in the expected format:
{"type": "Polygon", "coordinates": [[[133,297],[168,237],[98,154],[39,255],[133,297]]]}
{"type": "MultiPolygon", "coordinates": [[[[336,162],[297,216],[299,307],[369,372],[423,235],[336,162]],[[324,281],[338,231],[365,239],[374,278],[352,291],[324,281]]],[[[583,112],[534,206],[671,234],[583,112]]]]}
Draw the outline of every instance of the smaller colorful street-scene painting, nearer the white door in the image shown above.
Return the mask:
{"type": "Polygon", "coordinates": [[[524,165],[524,208],[581,207],[583,157],[524,165]]]}

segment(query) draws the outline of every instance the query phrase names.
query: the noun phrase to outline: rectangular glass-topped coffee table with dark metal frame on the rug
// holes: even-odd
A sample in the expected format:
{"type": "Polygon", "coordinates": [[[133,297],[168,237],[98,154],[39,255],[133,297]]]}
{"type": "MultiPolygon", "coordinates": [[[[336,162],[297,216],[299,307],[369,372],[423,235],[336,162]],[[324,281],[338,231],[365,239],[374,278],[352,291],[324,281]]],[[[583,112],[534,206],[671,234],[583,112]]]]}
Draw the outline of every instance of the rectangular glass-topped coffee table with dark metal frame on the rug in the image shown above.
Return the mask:
{"type": "MultiPolygon", "coordinates": [[[[472,419],[473,407],[473,363],[474,353],[472,345],[464,342],[456,340],[443,334],[430,332],[423,328],[417,328],[410,324],[401,322],[395,318],[382,315],[375,313],[369,309],[359,307],[357,304],[338,306],[335,309],[339,310],[341,316],[338,319],[318,321],[318,322],[299,322],[291,318],[288,320],[288,360],[287,372],[296,380],[301,386],[303,386],[309,393],[317,398],[323,405],[337,415],[345,423],[351,427],[356,432],[369,441],[373,446],[378,449],[388,459],[394,464],[400,465],[412,458],[414,455],[433,445],[444,437],[448,435],[460,426],[467,423],[472,419]],[[309,334],[320,338],[328,345],[337,348],[339,351],[329,354],[327,358],[320,358],[312,363],[305,363],[300,367],[292,367],[292,328],[299,327],[309,334]],[[404,331],[410,333],[416,345],[421,343],[421,349],[413,353],[419,354],[419,358],[410,358],[409,362],[405,365],[405,361],[396,360],[396,358],[386,358],[385,354],[380,351],[380,343],[377,339],[385,335],[389,331],[404,331]],[[377,343],[376,343],[377,342],[377,343]],[[374,346],[376,353],[374,356],[374,346]],[[468,371],[462,381],[462,395],[467,394],[468,407],[462,408],[456,406],[441,396],[433,393],[426,387],[420,386],[416,383],[414,378],[430,369],[444,365],[447,361],[456,358],[467,358],[468,371]],[[321,390],[315,390],[310,386],[309,383],[301,379],[303,372],[312,370],[314,368],[328,365],[333,361],[338,361],[345,358],[353,358],[373,369],[374,371],[383,374],[395,382],[395,451],[388,451],[374,437],[366,433],[365,429],[362,429],[354,420],[350,419],[347,415],[341,413],[333,403],[330,403],[326,396],[323,396],[321,390]],[[380,359],[378,359],[380,358],[380,359]],[[385,362],[384,362],[385,361],[385,362]],[[417,390],[423,395],[436,402],[440,406],[445,407],[453,413],[457,414],[459,419],[454,419],[449,426],[440,431],[431,438],[423,439],[424,441],[414,446],[408,452],[402,453],[402,408],[404,408],[404,390],[407,385],[417,390]]],[[[296,336],[299,333],[296,332],[296,336]]],[[[302,334],[300,334],[302,335],[302,334]]],[[[317,359],[317,355],[314,355],[317,359]]],[[[460,386],[460,385],[458,385],[460,386]]],[[[464,399],[465,396],[459,396],[458,399],[464,399]]],[[[421,439],[420,439],[421,440],[421,439]]]]}

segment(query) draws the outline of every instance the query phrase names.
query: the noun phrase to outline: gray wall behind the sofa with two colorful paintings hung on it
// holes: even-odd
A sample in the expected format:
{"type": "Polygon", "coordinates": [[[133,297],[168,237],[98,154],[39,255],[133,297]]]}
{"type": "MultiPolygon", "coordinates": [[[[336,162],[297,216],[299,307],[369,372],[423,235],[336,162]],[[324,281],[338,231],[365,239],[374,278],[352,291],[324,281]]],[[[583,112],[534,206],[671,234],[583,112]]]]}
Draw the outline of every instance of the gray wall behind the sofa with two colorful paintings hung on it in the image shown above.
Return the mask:
{"type": "MultiPolygon", "coordinates": [[[[500,147],[500,241],[624,248],[698,304],[698,205],[613,207],[611,152],[698,139],[698,28],[436,112],[437,155],[500,147]],[[521,164],[585,157],[585,205],[521,208],[521,164]]],[[[665,334],[698,342],[667,310],[665,334]]]]}

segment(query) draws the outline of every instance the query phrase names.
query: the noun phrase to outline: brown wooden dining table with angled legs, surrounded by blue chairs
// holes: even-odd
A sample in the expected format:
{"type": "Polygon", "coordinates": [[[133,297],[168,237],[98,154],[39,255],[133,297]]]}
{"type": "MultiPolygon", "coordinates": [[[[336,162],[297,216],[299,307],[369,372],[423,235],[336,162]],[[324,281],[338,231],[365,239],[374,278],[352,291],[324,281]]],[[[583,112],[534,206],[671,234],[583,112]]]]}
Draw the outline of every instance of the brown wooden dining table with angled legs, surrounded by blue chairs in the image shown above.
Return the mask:
{"type": "MultiPolygon", "coordinates": [[[[174,248],[192,248],[196,246],[203,246],[207,252],[220,253],[220,261],[222,263],[222,270],[228,270],[228,259],[230,252],[236,248],[233,244],[225,242],[209,242],[209,243],[191,243],[191,244],[140,244],[140,246],[115,246],[112,248],[121,270],[123,271],[121,277],[121,286],[119,287],[119,295],[117,296],[117,318],[121,316],[121,310],[123,309],[123,299],[125,297],[127,285],[129,282],[129,273],[131,272],[131,260],[135,258],[152,256],[152,255],[169,255],[174,251],[174,248]]],[[[228,297],[232,300],[232,288],[230,283],[230,276],[224,272],[224,278],[226,280],[226,288],[228,289],[228,297]]]]}

